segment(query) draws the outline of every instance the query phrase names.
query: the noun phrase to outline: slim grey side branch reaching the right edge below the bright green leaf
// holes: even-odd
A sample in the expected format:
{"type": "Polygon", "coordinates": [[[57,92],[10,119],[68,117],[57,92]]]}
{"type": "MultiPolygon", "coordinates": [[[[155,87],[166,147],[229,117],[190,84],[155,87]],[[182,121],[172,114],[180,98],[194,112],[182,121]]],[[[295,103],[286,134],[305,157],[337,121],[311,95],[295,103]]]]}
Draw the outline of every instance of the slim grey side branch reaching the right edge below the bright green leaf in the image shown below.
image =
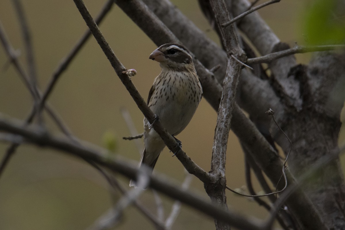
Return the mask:
{"type": "Polygon", "coordinates": [[[342,50],[345,49],[345,45],[325,45],[325,46],[295,46],[293,48],[282,50],[274,53],[269,53],[265,56],[258,58],[249,58],[247,64],[254,63],[270,63],[278,58],[286,57],[296,53],[318,52],[328,50],[342,50]]]}

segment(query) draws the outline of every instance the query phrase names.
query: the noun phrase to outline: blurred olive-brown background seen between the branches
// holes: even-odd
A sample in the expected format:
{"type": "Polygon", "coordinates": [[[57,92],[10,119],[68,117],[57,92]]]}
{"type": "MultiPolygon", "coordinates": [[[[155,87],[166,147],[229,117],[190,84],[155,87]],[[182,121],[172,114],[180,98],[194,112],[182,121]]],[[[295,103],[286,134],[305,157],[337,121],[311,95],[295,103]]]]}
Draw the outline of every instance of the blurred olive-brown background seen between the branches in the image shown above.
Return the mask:
{"type": "MultiPolygon", "coordinates": [[[[45,89],[60,60],[74,47],[87,27],[73,1],[22,2],[31,29],[39,86],[45,89]]],[[[93,16],[98,14],[104,2],[85,0],[93,16]]],[[[200,12],[197,1],[172,2],[219,43],[200,12]]],[[[282,41],[291,46],[295,41],[305,44],[304,18],[311,3],[281,1],[259,12],[282,41]]],[[[13,47],[21,52],[20,61],[26,66],[21,30],[10,0],[0,1],[0,20],[13,47]]],[[[132,81],[141,95],[147,98],[152,82],[160,72],[159,64],[148,59],[149,54],[157,48],[156,45],[117,6],[112,8],[100,29],[122,64],[128,69],[137,70],[138,74],[132,81]]],[[[307,63],[310,57],[311,54],[298,54],[297,61],[307,63]]],[[[25,119],[31,110],[32,98],[14,67],[7,67],[7,62],[8,58],[1,47],[0,112],[25,119]]],[[[134,142],[121,139],[130,133],[120,108],[128,109],[139,133],[142,132],[143,116],[93,37],[63,73],[49,97],[49,103],[78,138],[103,147],[106,147],[105,139],[111,141],[115,138],[113,144],[116,154],[139,160],[134,142]]],[[[185,152],[206,171],[210,168],[216,115],[209,104],[202,100],[194,118],[178,136],[185,152]]],[[[59,134],[48,116],[45,116],[45,120],[48,129],[59,134]]],[[[343,128],[339,142],[344,140],[344,136],[343,128]]],[[[0,157],[7,147],[8,144],[0,143],[0,157]]],[[[243,154],[232,132],[229,136],[226,167],[228,186],[244,186],[243,154]]],[[[181,183],[185,177],[183,166],[171,157],[167,149],[161,154],[155,171],[174,178],[176,183],[181,183]]],[[[128,181],[121,178],[126,188],[128,181]]],[[[255,186],[258,188],[256,182],[255,186]]],[[[203,183],[195,178],[190,190],[208,199],[203,183]]],[[[85,229],[107,211],[118,197],[118,194],[112,197],[105,179],[80,159],[50,149],[23,145],[18,148],[0,178],[0,229],[85,229]]],[[[161,198],[167,217],[173,201],[164,196],[161,198]]],[[[150,190],[145,191],[140,200],[156,213],[155,200],[150,190]]],[[[228,192],[227,201],[229,207],[236,211],[257,218],[267,217],[267,212],[248,198],[228,192]]],[[[126,209],[117,227],[152,228],[152,224],[133,207],[126,209]]],[[[186,206],[183,206],[172,227],[214,228],[213,219],[186,206]]]]}

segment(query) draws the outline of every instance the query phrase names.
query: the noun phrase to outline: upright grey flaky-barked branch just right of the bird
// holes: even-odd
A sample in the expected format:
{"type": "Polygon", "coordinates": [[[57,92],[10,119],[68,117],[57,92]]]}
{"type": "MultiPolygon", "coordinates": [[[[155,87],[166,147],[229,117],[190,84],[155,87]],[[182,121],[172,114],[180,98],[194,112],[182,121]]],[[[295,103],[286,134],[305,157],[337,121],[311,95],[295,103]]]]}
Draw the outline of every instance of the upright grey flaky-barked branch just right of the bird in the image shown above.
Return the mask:
{"type": "MultiPolygon", "coordinates": [[[[215,14],[217,26],[221,34],[223,47],[227,56],[227,69],[223,82],[223,93],[220,100],[217,116],[217,126],[212,147],[212,160],[210,174],[217,178],[216,183],[204,184],[205,190],[211,200],[220,206],[227,207],[226,203],[226,178],[225,162],[227,142],[230,131],[231,117],[235,106],[236,88],[238,85],[239,74],[242,69],[242,61],[246,59],[244,51],[240,48],[237,40],[238,31],[233,25],[224,30],[221,24],[230,19],[230,14],[222,0],[211,0],[210,5],[215,14]]],[[[216,229],[230,229],[230,226],[215,220],[216,229]]]]}

